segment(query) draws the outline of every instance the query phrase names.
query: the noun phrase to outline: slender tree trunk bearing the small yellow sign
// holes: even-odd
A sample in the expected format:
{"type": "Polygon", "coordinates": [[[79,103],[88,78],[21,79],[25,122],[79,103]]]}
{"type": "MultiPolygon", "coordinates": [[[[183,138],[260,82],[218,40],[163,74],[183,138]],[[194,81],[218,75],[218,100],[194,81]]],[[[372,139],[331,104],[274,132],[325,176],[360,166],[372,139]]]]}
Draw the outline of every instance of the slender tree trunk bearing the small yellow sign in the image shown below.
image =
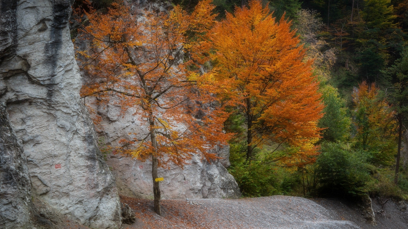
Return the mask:
{"type": "Polygon", "coordinates": [[[149,128],[150,128],[150,140],[152,146],[155,150],[156,155],[152,154],[152,178],[153,178],[153,196],[154,196],[154,211],[158,215],[162,215],[162,210],[160,208],[160,186],[159,181],[156,181],[157,176],[157,141],[156,141],[156,132],[154,128],[154,118],[153,118],[153,111],[150,111],[149,114],[149,128]]]}

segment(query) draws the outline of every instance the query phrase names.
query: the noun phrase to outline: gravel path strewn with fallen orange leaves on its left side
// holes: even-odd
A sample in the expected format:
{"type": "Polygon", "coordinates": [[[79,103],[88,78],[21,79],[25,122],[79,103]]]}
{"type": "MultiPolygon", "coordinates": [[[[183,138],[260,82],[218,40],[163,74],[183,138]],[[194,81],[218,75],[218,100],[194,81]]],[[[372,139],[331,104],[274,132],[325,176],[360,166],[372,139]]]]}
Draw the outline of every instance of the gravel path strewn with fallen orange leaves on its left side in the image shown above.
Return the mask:
{"type": "Polygon", "coordinates": [[[163,215],[153,201],[122,197],[137,222],[122,229],[357,229],[354,222],[333,220],[313,200],[293,196],[243,199],[162,200],[163,215]]]}

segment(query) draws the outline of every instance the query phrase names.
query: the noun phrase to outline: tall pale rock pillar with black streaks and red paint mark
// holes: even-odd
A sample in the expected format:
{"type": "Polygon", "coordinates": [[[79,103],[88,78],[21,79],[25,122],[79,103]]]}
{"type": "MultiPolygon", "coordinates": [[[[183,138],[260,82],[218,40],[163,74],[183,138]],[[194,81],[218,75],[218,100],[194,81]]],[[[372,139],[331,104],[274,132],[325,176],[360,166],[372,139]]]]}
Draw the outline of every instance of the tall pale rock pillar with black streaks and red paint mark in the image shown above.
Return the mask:
{"type": "Polygon", "coordinates": [[[71,2],[1,0],[0,101],[22,140],[33,194],[83,225],[119,228],[115,179],[80,101],[71,2]]]}

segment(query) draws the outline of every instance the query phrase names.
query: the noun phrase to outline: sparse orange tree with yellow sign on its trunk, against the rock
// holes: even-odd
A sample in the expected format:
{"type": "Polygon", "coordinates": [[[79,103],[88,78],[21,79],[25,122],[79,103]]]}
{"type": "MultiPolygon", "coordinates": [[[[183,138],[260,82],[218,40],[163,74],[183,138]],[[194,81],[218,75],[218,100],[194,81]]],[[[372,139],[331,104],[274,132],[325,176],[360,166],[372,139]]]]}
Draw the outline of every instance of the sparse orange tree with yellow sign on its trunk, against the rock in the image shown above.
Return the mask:
{"type": "Polygon", "coordinates": [[[78,52],[90,77],[81,95],[118,104],[122,112],[137,108],[133,115],[146,132],[130,133],[133,139],[122,139],[115,151],[152,160],[159,215],[157,167],[182,166],[197,153],[208,161],[217,159],[208,150],[228,140],[222,133],[226,115],[210,106],[218,103],[212,96],[213,78],[188,71],[189,65],[206,60],[204,39],[216,16],[210,2],[199,2],[190,14],[176,6],[168,12],[146,11],[144,18],[117,3],[105,14],[77,10],[89,19],[80,37],[89,48],[78,52]]]}

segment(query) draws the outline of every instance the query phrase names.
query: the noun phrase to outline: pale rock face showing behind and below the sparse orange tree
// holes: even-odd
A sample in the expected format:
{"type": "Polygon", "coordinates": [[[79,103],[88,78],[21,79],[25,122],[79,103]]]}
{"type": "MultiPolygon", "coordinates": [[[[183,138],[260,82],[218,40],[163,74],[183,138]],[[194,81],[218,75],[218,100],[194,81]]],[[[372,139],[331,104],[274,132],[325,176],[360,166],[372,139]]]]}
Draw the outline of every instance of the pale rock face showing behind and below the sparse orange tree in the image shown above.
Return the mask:
{"type": "MultiPolygon", "coordinates": [[[[131,8],[142,19],[144,11],[166,11],[171,8],[164,1],[137,1],[129,3],[131,8]]],[[[78,44],[82,48],[83,44],[78,44]]],[[[86,75],[84,79],[86,80],[86,75]]],[[[134,116],[135,110],[129,109],[124,114],[120,107],[114,105],[96,106],[89,98],[90,105],[102,117],[99,131],[100,138],[113,147],[119,146],[120,139],[130,139],[129,133],[144,133],[145,127],[139,117],[134,116]]],[[[223,159],[202,161],[195,156],[184,168],[171,165],[170,169],[159,169],[159,176],[164,177],[160,183],[162,198],[236,198],[240,196],[238,185],[226,167],[229,164],[229,147],[218,147],[214,152],[223,159]]],[[[151,181],[151,161],[141,162],[128,157],[111,155],[107,158],[108,165],[113,169],[120,194],[137,198],[153,198],[151,181]]]]}

